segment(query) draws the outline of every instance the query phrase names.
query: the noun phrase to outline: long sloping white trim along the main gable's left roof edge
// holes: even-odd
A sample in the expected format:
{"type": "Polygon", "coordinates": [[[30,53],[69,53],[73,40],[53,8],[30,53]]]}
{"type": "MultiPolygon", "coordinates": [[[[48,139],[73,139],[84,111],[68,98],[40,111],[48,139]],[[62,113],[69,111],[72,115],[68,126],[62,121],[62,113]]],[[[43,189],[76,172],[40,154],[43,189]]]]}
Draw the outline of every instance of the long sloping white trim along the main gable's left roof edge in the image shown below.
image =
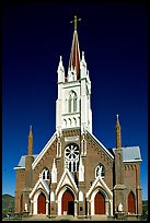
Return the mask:
{"type": "Polygon", "coordinates": [[[41,151],[41,153],[37,155],[37,157],[35,159],[35,161],[32,164],[32,168],[34,169],[35,166],[37,165],[37,163],[41,161],[41,159],[43,157],[43,155],[47,152],[47,150],[49,149],[50,144],[54,142],[54,140],[56,139],[56,132],[53,134],[53,137],[50,138],[50,140],[47,142],[47,144],[44,146],[44,149],[41,151]]]}

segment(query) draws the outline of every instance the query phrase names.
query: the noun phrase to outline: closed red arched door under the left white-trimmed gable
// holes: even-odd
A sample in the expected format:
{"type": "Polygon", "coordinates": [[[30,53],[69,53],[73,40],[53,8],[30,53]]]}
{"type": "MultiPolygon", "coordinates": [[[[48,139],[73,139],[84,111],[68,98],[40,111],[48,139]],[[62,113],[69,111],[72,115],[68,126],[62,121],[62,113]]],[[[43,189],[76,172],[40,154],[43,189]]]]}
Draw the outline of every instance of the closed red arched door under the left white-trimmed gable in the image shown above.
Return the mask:
{"type": "Polygon", "coordinates": [[[46,214],[46,198],[43,192],[37,199],[37,214],[46,214]]]}

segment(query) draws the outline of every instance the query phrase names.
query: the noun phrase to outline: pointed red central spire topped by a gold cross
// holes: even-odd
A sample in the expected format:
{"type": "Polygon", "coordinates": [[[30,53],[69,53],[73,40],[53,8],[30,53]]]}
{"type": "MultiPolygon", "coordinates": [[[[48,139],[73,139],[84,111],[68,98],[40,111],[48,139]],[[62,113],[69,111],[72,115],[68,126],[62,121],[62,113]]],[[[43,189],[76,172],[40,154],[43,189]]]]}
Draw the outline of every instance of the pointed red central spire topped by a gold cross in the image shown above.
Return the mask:
{"type": "Polygon", "coordinates": [[[80,48],[79,48],[78,32],[77,32],[78,21],[81,21],[81,19],[77,20],[77,15],[74,15],[74,21],[70,22],[70,23],[74,23],[74,32],[73,32],[72,47],[71,47],[70,60],[69,60],[68,81],[80,79],[80,48]],[[76,75],[74,78],[70,78],[72,73],[73,75],[76,75]]]}

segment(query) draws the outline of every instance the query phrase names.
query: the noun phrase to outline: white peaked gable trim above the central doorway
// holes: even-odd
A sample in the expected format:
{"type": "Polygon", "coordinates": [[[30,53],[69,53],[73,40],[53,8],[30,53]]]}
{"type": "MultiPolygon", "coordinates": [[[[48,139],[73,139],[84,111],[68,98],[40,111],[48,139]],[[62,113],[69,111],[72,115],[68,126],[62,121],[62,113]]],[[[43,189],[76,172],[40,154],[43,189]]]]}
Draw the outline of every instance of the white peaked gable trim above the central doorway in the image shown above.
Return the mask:
{"type": "Polygon", "coordinates": [[[58,185],[57,185],[57,188],[56,188],[56,191],[55,191],[56,195],[58,193],[60,187],[62,187],[62,186],[65,185],[65,184],[64,184],[65,180],[68,181],[68,185],[69,185],[71,188],[72,188],[72,186],[73,186],[73,187],[76,188],[76,192],[78,192],[78,187],[77,187],[74,180],[72,179],[72,176],[70,175],[70,172],[68,171],[68,168],[65,168],[65,172],[64,172],[64,174],[62,174],[62,176],[61,176],[61,178],[60,178],[60,180],[59,180],[59,183],[58,183],[58,185]]]}

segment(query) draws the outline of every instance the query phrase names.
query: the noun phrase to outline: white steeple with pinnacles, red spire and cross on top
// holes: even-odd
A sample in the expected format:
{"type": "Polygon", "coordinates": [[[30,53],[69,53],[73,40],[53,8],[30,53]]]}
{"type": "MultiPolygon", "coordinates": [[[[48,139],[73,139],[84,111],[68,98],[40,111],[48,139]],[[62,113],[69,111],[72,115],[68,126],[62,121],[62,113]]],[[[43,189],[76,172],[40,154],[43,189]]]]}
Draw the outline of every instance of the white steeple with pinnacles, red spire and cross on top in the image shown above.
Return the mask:
{"type": "Polygon", "coordinates": [[[77,16],[74,16],[74,32],[67,78],[65,78],[65,69],[61,57],[57,72],[57,132],[61,133],[62,129],[81,128],[81,133],[83,133],[86,129],[92,133],[91,81],[83,51],[82,58],[80,58],[77,16]]]}

